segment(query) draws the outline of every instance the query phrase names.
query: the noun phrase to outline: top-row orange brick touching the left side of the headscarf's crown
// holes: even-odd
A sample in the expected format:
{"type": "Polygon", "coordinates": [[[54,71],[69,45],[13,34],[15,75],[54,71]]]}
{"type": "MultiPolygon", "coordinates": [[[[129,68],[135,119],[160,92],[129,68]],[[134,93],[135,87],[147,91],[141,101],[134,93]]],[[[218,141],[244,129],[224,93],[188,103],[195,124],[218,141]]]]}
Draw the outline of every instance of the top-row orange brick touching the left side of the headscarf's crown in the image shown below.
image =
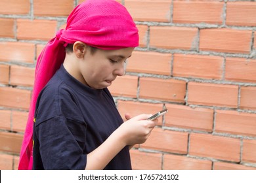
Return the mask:
{"type": "Polygon", "coordinates": [[[35,16],[68,16],[74,8],[70,0],[37,0],[33,2],[35,16]]]}

